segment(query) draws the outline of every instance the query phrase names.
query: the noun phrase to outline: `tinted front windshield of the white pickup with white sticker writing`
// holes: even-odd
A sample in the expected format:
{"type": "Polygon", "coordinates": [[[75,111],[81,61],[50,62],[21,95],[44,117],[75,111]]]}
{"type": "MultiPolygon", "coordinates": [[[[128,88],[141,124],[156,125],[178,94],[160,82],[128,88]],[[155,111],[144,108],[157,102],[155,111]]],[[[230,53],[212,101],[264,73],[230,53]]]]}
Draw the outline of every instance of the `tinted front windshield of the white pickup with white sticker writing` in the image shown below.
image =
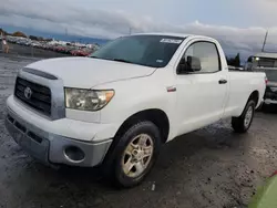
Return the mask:
{"type": "Polygon", "coordinates": [[[152,67],[164,67],[171,61],[183,40],[184,38],[165,35],[123,37],[107,43],[90,56],[152,67]]]}

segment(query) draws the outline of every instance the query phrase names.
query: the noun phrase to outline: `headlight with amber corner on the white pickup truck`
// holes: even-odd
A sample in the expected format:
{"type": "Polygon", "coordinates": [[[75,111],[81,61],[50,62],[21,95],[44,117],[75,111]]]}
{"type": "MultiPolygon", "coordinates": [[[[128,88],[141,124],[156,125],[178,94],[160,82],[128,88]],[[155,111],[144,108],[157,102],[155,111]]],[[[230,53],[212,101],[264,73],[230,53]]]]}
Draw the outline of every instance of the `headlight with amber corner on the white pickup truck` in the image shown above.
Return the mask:
{"type": "Polygon", "coordinates": [[[113,97],[114,91],[93,91],[81,89],[64,89],[65,106],[73,110],[98,111],[104,107],[113,97]]]}

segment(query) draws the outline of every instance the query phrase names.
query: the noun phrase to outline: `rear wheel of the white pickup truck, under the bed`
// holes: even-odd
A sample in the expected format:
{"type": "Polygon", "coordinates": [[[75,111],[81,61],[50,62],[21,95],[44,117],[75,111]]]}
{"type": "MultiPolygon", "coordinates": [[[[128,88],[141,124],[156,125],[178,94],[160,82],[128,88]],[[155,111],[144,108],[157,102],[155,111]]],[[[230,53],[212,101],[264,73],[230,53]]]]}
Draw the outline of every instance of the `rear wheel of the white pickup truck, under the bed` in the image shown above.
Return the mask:
{"type": "Polygon", "coordinates": [[[248,101],[243,114],[232,118],[232,127],[236,133],[246,133],[249,129],[255,114],[255,105],[254,101],[248,101]]]}

